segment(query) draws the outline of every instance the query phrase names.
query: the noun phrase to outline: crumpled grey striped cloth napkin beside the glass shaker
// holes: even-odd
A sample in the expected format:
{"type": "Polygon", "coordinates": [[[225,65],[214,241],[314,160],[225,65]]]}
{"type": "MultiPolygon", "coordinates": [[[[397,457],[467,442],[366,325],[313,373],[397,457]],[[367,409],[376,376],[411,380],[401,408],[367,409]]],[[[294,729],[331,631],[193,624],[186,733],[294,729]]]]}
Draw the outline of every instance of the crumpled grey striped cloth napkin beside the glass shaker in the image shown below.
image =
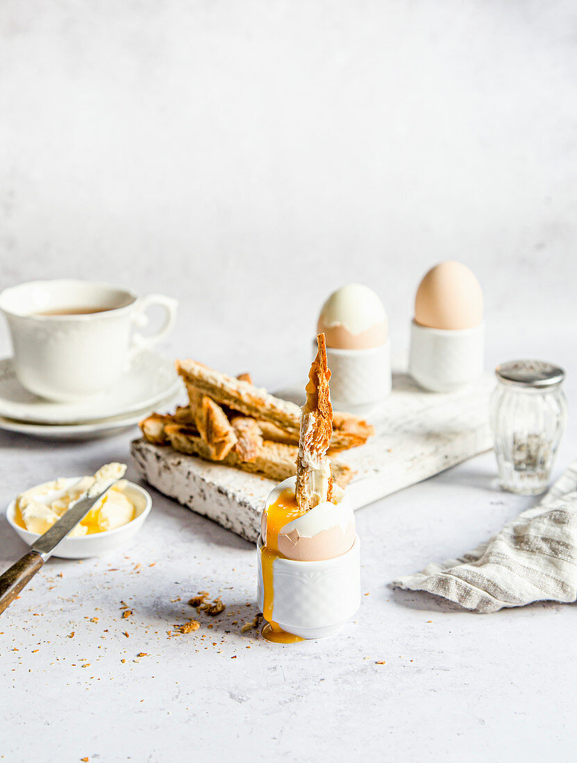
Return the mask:
{"type": "Polygon", "coordinates": [[[428,591],[481,613],[533,601],[575,601],[577,461],[539,506],[521,513],[475,551],[427,565],[393,585],[428,591]]]}

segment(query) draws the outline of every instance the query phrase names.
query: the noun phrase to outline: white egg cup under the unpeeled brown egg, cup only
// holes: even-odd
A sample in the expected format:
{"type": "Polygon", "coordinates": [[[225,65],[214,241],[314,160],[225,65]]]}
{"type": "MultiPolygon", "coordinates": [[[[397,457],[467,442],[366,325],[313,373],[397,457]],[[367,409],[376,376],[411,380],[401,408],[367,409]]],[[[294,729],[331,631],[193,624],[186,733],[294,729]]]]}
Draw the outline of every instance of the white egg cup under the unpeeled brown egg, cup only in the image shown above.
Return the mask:
{"type": "Polygon", "coordinates": [[[432,329],[414,320],[410,331],[409,373],[432,392],[453,392],[483,373],[485,323],[473,329],[432,329]]]}

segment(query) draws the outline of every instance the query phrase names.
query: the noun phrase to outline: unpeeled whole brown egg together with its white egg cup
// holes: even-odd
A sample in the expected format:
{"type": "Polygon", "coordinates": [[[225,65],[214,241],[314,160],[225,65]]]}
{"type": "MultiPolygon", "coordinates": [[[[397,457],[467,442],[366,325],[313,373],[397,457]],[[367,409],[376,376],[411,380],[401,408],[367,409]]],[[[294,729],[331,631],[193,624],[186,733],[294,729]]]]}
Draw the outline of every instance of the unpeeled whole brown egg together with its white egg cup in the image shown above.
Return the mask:
{"type": "Polygon", "coordinates": [[[483,295],[461,262],[441,262],[417,289],[409,372],[433,392],[452,392],[478,379],[485,362],[483,295]]]}

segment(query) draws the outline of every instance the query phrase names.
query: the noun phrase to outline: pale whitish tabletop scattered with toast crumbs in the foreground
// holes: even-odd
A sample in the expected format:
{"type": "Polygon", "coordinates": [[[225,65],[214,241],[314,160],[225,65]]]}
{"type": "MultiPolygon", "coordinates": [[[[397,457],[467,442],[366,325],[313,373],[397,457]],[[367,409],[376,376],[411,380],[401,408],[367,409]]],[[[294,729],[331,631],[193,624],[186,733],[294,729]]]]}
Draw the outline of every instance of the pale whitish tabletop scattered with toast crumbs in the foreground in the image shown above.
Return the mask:
{"type": "MultiPolygon", "coordinates": [[[[570,369],[567,336],[533,346],[570,369]]],[[[567,391],[571,404],[572,375],[567,391]]],[[[2,503],[53,475],[126,459],[131,434],[76,445],[0,434],[2,503]]],[[[572,420],[556,474],[575,445],[572,420]]],[[[240,632],[257,611],[254,549],[152,493],[131,546],[51,559],[0,617],[8,761],[41,751],[44,761],[572,759],[574,607],[482,616],[389,585],[472,549],[533,503],[498,490],[492,453],[358,511],[358,617],[338,636],[293,646],[240,632]],[[196,617],[186,601],[198,591],[222,595],[225,612],[167,636],[196,617]]],[[[3,520],[2,565],[24,550],[3,520]]]]}

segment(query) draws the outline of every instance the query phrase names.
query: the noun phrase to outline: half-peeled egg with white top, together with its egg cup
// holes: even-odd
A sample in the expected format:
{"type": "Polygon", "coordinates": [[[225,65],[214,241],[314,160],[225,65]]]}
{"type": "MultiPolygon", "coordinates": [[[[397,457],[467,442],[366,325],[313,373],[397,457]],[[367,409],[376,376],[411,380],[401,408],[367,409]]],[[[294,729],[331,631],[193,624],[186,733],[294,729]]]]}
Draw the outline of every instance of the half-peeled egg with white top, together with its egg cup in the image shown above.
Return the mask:
{"type": "Polygon", "coordinates": [[[366,412],[391,394],[391,343],[378,295],[362,284],[334,291],[323,304],[317,331],[326,336],[336,407],[366,412]]]}

